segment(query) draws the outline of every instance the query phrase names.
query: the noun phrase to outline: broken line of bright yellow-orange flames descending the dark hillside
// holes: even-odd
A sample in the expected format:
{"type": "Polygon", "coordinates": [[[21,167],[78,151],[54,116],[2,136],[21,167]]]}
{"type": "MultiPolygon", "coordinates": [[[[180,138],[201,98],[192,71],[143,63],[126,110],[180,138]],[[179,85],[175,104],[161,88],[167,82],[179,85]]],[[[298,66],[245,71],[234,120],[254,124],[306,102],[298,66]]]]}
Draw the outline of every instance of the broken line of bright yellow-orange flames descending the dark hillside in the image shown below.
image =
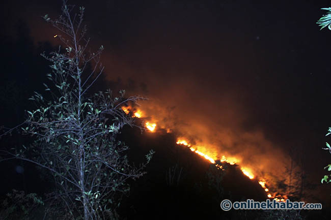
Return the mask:
{"type": "MultiPolygon", "coordinates": [[[[137,117],[137,118],[141,118],[143,116],[143,112],[141,110],[132,110],[131,107],[122,107],[122,110],[124,111],[125,114],[129,114],[130,111],[132,112],[132,117],[137,117]]],[[[156,131],[156,123],[152,123],[150,121],[146,121],[145,123],[146,128],[150,131],[150,132],[155,132],[156,131]]],[[[170,129],[167,129],[167,133],[170,132],[170,129]]],[[[230,165],[235,165],[237,164],[240,160],[236,159],[236,158],[227,158],[225,155],[222,155],[222,157],[220,159],[216,159],[216,158],[212,158],[211,156],[209,156],[208,154],[199,151],[198,149],[203,148],[205,149],[205,147],[202,146],[195,146],[193,147],[188,141],[185,140],[185,138],[178,138],[176,144],[178,145],[183,145],[186,147],[189,147],[189,149],[192,152],[195,152],[197,154],[199,154],[200,156],[202,156],[203,158],[205,158],[206,160],[208,160],[210,163],[215,164],[215,160],[219,160],[222,163],[228,163],[230,165]]],[[[215,166],[217,167],[217,169],[222,169],[224,170],[224,168],[218,164],[215,164],[215,166]]],[[[250,168],[247,167],[241,167],[240,168],[241,172],[247,176],[250,179],[255,179],[255,175],[253,174],[252,170],[250,168]]],[[[261,187],[264,189],[264,191],[267,194],[267,197],[270,199],[274,199],[278,202],[281,201],[285,201],[287,199],[287,196],[281,196],[281,195],[277,195],[277,193],[274,193],[273,195],[271,195],[271,193],[269,193],[269,188],[266,187],[266,181],[262,178],[258,181],[258,183],[261,185],[261,187]]]]}

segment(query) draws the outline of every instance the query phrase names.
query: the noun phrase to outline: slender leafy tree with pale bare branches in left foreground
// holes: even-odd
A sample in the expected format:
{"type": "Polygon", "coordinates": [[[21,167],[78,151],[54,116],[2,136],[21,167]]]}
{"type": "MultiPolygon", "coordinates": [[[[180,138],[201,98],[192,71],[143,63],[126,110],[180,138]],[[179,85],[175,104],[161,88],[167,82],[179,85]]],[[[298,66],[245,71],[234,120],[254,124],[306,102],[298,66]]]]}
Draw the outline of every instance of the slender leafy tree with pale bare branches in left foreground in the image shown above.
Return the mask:
{"type": "Polygon", "coordinates": [[[100,63],[103,46],[94,53],[87,52],[90,40],[85,38],[86,26],[82,26],[84,7],[74,15],[73,9],[64,1],[58,19],[43,17],[58,29],[54,38],[62,41],[65,50],[60,47],[48,56],[42,54],[52,63],[52,73],[47,75],[52,85],[44,84],[51,98],[35,92],[30,99],[38,109],[27,111],[22,130],[35,141],[27,148],[13,149],[11,158],[51,172],[56,182],[54,204],[66,210],[61,218],[105,219],[119,206],[119,193],[129,190],[126,180],[144,174],[142,169],[153,151],[146,155],[146,163],[133,167],[125,154],[128,147],[117,139],[124,125],[133,125],[133,118],[121,106],[140,97],[125,98],[124,91],[113,97],[111,90],[89,95],[104,69],[100,63]]]}

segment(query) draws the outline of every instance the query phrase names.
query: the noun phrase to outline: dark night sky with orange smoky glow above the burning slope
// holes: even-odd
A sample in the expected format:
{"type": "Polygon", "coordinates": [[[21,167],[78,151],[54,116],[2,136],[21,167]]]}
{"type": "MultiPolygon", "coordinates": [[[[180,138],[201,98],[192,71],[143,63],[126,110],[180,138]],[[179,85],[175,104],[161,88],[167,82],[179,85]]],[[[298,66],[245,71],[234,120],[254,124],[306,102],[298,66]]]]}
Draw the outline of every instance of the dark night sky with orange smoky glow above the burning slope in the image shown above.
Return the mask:
{"type": "MultiPolygon", "coordinates": [[[[330,158],[321,148],[331,126],[331,32],[316,21],[328,1],[69,4],[86,8],[92,47],[105,47],[109,86],[148,97],[142,108],[159,125],[279,178],[292,148],[320,182],[330,158]]],[[[7,2],[4,34],[15,36],[23,20],[36,44],[57,45],[41,16],[60,8],[61,1],[7,2]]]]}

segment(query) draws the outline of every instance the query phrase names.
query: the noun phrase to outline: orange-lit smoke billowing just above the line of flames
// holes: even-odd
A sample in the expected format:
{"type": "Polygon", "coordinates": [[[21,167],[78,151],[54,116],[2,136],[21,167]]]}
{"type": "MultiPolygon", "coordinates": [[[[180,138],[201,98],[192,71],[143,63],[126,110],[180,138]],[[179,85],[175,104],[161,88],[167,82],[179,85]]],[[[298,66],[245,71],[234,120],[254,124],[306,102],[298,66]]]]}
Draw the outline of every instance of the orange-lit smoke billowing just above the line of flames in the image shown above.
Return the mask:
{"type": "Polygon", "coordinates": [[[252,115],[254,106],[247,100],[251,95],[243,87],[234,87],[222,74],[206,75],[199,70],[170,74],[148,71],[138,72],[135,79],[131,75],[117,80],[128,95],[149,99],[141,102],[143,117],[184,137],[214,159],[225,155],[250,168],[255,176],[269,173],[284,177],[288,156],[278,143],[266,138],[263,127],[255,124],[257,115],[252,115]],[[137,86],[143,82],[147,86],[137,86]]]}

